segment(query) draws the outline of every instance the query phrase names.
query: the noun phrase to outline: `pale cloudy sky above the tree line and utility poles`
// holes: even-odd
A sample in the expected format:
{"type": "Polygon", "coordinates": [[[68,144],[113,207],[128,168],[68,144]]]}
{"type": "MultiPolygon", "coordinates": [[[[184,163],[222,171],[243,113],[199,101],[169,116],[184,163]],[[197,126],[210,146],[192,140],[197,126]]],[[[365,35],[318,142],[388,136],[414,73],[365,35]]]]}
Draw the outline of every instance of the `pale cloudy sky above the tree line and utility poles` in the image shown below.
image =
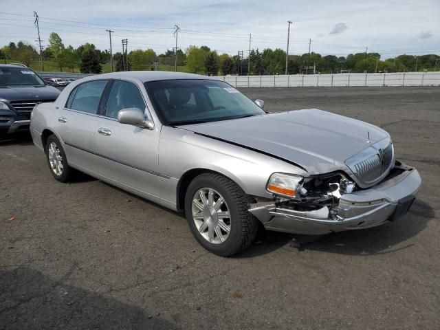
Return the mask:
{"type": "Polygon", "coordinates": [[[38,38],[33,13],[39,15],[43,46],[56,32],[63,43],[94,43],[113,53],[128,39],[129,51],[152,48],[157,54],[175,47],[207,45],[219,54],[251,48],[286,49],[287,21],[292,21],[289,54],[309,51],[347,56],[378,52],[440,54],[440,0],[230,1],[230,0],[0,0],[0,47],[38,38]],[[251,34],[251,38],[250,38],[251,34]]]}

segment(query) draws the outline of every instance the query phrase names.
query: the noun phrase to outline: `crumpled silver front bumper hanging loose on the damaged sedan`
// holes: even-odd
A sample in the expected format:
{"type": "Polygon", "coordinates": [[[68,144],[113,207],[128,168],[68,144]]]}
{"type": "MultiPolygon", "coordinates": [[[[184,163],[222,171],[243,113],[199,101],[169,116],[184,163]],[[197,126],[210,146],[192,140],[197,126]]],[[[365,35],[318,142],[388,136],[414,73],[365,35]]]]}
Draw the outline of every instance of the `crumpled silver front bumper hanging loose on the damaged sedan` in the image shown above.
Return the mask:
{"type": "Polygon", "coordinates": [[[344,230],[371,228],[387,221],[394,221],[408,212],[421,185],[421,177],[415,168],[405,170],[391,179],[369,189],[358,190],[341,196],[339,205],[302,212],[277,207],[275,203],[257,203],[250,212],[267,230],[296,234],[327,234],[344,230]]]}

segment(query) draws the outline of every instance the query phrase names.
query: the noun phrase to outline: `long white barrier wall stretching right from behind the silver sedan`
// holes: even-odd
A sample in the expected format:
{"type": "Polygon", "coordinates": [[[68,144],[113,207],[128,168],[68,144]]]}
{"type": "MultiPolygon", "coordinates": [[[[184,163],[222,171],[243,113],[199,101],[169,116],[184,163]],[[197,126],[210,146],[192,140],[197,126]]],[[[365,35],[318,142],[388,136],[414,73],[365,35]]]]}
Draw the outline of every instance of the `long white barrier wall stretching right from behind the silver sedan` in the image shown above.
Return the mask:
{"type": "Polygon", "coordinates": [[[218,76],[216,78],[234,87],[440,86],[440,72],[218,76]]]}

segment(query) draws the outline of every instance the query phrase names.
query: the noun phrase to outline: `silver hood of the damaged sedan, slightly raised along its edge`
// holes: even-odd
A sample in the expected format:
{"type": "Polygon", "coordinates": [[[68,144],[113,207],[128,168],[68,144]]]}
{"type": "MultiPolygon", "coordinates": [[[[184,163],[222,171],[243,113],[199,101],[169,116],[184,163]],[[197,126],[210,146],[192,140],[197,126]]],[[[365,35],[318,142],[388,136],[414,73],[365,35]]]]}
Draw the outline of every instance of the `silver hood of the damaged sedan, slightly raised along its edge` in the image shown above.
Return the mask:
{"type": "Polygon", "coordinates": [[[311,175],[347,171],[346,159],[389,137],[377,126],[318,109],[179,128],[286,159],[302,166],[311,175]]]}

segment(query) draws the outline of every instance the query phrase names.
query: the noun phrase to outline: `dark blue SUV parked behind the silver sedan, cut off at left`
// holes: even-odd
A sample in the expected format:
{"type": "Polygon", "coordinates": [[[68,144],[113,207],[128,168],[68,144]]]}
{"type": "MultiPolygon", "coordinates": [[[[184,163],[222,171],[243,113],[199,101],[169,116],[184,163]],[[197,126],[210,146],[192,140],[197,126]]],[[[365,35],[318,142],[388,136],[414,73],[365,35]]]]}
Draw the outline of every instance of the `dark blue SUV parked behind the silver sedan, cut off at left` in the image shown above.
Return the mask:
{"type": "Polygon", "coordinates": [[[28,131],[35,104],[53,102],[60,91],[23,65],[0,65],[0,134],[28,131]]]}

